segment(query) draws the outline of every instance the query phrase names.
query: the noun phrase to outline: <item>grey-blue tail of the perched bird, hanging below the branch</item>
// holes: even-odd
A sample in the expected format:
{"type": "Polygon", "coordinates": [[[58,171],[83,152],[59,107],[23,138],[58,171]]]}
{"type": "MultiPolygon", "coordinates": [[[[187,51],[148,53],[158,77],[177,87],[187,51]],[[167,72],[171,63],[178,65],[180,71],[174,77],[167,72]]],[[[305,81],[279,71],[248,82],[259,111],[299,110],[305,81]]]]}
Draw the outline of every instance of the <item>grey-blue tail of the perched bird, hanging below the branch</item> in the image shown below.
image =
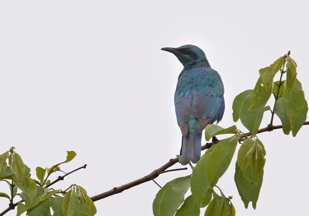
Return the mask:
{"type": "Polygon", "coordinates": [[[181,155],[183,165],[187,165],[190,161],[196,164],[200,160],[201,140],[202,133],[198,131],[195,133],[189,132],[187,136],[182,137],[181,155]]]}

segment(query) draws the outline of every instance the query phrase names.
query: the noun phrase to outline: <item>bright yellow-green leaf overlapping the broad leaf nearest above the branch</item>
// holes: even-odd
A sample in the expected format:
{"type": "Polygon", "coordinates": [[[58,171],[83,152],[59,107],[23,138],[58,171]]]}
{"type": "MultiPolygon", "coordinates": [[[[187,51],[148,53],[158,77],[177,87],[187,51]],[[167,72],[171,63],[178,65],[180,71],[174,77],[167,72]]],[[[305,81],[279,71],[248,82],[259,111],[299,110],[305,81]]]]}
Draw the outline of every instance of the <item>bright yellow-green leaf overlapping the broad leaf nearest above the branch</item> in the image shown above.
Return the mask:
{"type": "Polygon", "coordinates": [[[251,106],[249,107],[249,110],[252,108],[256,108],[259,106],[265,106],[265,104],[268,102],[271,95],[271,91],[266,91],[265,85],[263,85],[263,78],[260,77],[252,92],[252,102],[251,106]]]}

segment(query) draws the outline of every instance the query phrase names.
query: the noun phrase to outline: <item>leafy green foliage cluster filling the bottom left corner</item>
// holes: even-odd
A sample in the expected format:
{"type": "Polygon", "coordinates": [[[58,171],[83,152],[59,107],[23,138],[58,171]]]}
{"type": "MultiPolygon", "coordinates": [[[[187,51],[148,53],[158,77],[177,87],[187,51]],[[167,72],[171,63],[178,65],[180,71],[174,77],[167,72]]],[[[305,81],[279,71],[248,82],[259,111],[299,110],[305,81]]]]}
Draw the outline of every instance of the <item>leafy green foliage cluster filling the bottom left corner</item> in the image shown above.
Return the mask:
{"type": "Polygon", "coordinates": [[[36,180],[31,178],[30,168],[23,163],[14,149],[11,147],[0,155],[0,181],[6,182],[11,191],[10,195],[1,192],[0,197],[9,199],[10,206],[14,205],[14,197],[22,199],[17,205],[17,216],[24,212],[30,216],[52,216],[50,209],[54,216],[96,214],[93,201],[81,186],[73,184],[65,190],[50,187],[53,183],[48,179],[49,176],[53,172],[61,171],[61,164],[73,160],[76,156],[74,151],[68,151],[66,160],[51,168],[37,167],[36,180]]]}

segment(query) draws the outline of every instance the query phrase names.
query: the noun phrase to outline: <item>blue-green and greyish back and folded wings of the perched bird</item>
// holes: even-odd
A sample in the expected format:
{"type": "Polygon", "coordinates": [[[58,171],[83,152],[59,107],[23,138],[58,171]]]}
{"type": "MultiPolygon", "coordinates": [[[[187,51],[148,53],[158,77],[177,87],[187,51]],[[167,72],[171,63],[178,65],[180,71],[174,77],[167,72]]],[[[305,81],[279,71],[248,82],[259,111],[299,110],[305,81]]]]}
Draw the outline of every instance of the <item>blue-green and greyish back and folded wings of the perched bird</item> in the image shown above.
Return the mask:
{"type": "Polygon", "coordinates": [[[174,97],[178,124],[188,123],[191,115],[203,122],[200,125],[203,129],[207,124],[219,122],[223,116],[223,94],[221,77],[214,69],[209,66],[184,69],[178,78],[174,97]]]}

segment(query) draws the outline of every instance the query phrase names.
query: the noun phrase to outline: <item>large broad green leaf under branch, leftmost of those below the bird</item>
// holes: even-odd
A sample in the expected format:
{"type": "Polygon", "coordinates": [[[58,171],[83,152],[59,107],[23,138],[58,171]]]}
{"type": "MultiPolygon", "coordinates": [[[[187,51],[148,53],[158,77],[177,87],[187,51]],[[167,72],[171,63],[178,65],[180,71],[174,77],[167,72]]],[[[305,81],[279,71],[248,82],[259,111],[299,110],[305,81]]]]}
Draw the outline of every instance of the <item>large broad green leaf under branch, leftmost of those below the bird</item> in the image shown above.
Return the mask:
{"type": "Polygon", "coordinates": [[[190,187],[190,179],[191,175],[167,182],[155,197],[152,205],[153,214],[174,215],[184,202],[184,194],[190,187]]]}

